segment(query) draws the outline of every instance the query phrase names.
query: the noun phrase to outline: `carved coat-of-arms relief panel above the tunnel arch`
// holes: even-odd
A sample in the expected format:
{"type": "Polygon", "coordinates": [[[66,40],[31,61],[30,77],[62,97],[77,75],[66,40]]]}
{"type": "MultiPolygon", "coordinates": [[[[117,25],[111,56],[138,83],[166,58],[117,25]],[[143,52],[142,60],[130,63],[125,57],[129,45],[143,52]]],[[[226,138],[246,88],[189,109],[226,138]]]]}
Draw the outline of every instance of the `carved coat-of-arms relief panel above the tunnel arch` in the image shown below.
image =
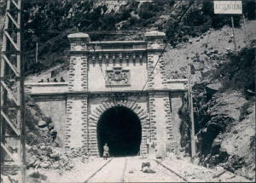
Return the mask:
{"type": "Polygon", "coordinates": [[[107,85],[130,85],[130,71],[122,70],[122,67],[113,67],[113,70],[107,70],[107,85]]]}

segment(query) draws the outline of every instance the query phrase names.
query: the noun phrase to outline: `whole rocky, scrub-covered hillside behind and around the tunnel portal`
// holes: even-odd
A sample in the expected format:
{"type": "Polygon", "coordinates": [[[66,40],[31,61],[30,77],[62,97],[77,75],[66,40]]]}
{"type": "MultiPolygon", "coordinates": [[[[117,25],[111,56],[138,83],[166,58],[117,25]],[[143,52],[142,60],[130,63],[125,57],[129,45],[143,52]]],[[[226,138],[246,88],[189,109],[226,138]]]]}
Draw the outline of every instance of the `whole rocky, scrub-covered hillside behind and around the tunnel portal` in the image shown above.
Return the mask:
{"type": "MultiPolygon", "coordinates": [[[[6,1],[2,2],[0,28],[6,1]]],[[[240,15],[234,17],[238,46],[236,55],[230,16],[213,14],[212,1],[26,2],[26,75],[37,82],[47,72],[59,69],[60,76],[67,76],[67,34],[72,32],[89,32],[93,40],[124,40],[140,39],[143,31],[165,31],[166,43],[169,43],[164,54],[168,77],[187,77],[187,61],[192,63],[199,157],[195,162],[207,167],[221,166],[222,169],[255,180],[256,37],[253,31],[256,27],[255,20],[252,20],[255,17],[255,3],[246,1],[243,5],[246,24],[240,15]],[[93,32],[125,30],[136,33],[113,36],[93,32]],[[36,43],[39,45],[38,64],[34,63],[36,43]]],[[[53,138],[47,117],[32,109],[35,107],[33,104],[28,107],[27,112],[31,116],[39,117],[32,117],[37,122],[36,129],[45,129],[42,136],[53,138]]],[[[186,98],[179,113],[183,119],[181,144],[183,152],[189,155],[190,123],[186,98]]],[[[34,151],[33,148],[30,150],[34,151]]],[[[49,166],[54,164],[55,157],[47,154],[44,157],[49,166]]],[[[31,164],[32,167],[37,165],[35,162],[31,164]]]]}

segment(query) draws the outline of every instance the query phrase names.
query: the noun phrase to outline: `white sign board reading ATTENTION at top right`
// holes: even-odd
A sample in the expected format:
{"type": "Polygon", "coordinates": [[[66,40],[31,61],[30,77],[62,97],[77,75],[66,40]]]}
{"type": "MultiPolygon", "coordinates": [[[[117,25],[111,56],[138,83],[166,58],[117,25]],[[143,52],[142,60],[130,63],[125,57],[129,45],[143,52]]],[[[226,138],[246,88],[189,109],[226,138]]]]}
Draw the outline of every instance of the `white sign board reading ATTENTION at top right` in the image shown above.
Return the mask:
{"type": "Polygon", "coordinates": [[[241,1],[214,1],[214,14],[242,14],[241,1]]]}

